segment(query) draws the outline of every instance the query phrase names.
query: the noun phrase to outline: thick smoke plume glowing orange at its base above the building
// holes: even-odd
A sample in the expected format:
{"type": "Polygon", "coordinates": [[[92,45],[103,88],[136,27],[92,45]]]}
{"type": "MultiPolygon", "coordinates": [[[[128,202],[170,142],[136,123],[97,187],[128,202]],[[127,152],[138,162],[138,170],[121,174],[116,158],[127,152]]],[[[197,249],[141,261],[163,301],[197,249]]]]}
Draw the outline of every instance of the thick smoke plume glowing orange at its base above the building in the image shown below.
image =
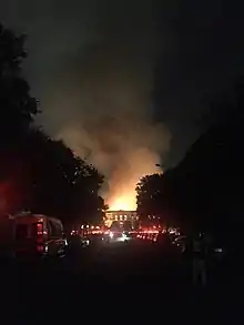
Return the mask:
{"type": "Polygon", "coordinates": [[[109,204],[121,197],[121,207],[133,209],[135,184],[156,171],[170,143],[152,118],[156,1],[87,2],[69,11],[62,1],[42,1],[39,19],[29,21],[31,38],[40,37],[30,60],[41,122],[105,174],[109,204]]]}

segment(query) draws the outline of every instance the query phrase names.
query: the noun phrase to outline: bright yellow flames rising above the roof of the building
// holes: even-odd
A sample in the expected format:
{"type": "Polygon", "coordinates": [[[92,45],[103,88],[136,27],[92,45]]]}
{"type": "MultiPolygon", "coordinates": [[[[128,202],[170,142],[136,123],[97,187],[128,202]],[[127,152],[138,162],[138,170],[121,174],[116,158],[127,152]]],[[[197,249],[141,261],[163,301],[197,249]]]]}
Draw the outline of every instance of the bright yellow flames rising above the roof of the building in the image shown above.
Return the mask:
{"type": "MultiPolygon", "coordinates": [[[[133,191],[134,192],[134,191],[133,191]]],[[[136,210],[136,199],[134,193],[122,194],[121,196],[109,200],[111,211],[134,211],[136,210]]]]}

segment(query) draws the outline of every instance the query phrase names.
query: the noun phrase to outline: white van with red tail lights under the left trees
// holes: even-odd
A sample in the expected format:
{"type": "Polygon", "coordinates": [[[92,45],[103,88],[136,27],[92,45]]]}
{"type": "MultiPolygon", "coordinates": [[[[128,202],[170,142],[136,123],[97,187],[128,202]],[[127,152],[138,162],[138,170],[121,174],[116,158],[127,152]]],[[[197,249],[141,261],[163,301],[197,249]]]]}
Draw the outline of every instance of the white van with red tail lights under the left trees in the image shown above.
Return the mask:
{"type": "Polygon", "coordinates": [[[21,213],[13,219],[14,253],[62,255],[67,241],[59,219],[42,214],[21,213]]]}

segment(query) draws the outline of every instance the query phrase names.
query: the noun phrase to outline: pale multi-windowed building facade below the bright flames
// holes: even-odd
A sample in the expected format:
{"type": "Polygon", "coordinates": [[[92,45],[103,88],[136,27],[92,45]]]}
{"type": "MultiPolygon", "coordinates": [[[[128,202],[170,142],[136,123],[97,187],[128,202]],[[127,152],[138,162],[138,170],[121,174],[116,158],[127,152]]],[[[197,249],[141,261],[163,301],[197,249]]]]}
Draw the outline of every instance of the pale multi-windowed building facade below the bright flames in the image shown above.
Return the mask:
{"type": "Polygon", "coordinates": [[[105,225],[110,227],[114,222],[128,224],[131,228],[136,228],[139,216],[136,211],[106,211],[104,220],[105,225]]]}

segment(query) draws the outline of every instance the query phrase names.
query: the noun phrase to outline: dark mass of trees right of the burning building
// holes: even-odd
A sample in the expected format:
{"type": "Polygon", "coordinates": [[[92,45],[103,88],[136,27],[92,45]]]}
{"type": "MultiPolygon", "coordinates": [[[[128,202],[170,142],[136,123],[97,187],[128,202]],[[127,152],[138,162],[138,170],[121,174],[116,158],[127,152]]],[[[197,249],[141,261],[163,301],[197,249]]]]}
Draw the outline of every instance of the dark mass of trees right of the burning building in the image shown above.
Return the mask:
{"type": "Polygon", "coordinates": [[[139,213],[145,220],[157,215],[185,231],[240,237],[244,213],[243,78],[211,105],[207,120],[207,130],[175,169],[140,181],[139,213]]]}

